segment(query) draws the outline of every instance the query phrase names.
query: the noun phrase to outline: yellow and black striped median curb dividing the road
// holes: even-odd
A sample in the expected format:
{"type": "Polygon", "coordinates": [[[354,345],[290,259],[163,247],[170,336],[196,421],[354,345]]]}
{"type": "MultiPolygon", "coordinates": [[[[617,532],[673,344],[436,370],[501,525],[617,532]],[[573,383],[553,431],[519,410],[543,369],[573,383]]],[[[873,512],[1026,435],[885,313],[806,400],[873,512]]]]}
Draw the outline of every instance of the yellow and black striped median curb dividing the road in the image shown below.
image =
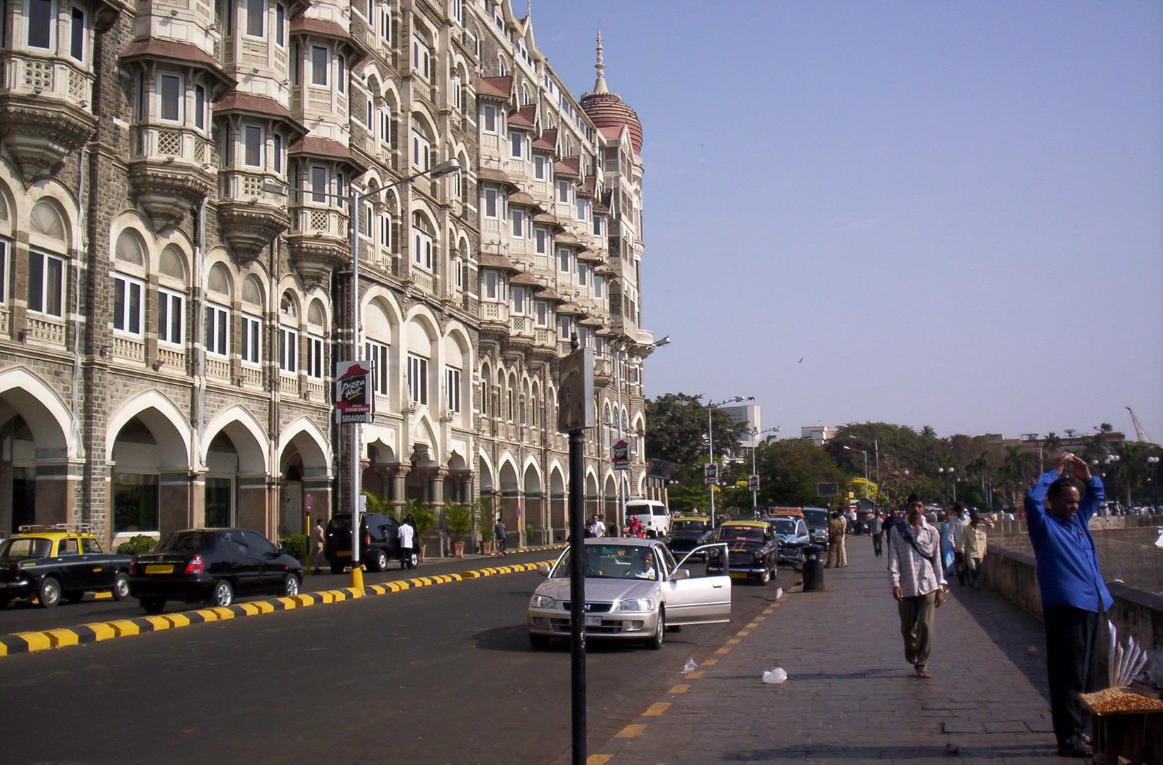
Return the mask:
{"type": "MultiPolygon", "coordinates": [[[[549,550],[552,548],[541,549],[549,550]]],[[[523,552],[528,551],[529,550],[525,550],[523,552]]],[[[402,592],[405,589],[415,589],[416,587],[430,587],[433,585],[447,585],[452,581],[464,581],[466,579],[481,579],[484,577],[498,577],[502,574],[519,573],[522,571],[534,571],[537,566],[544,566],[552,563],[552,560],[515,563],[507,566],[493,566],[488,569],[463,571],[461,573],[398,579],[394,581],[385,581],[380,585],[366,585],[362,589],[357,587],[342,587],[340,589],[301,593],[299,595],[276,598],[273,600],[249,601],[237,603],[235,606],[201,608],[199,610],[183,612],[179,614],[141,616],[137,619],[119,619],[109,622],[81,624],[79,627],[64,627],[43,631],[0,635],[0,656],[33,653],[35,651],[65,648],[67,645],[87,645],[90,643],[110,641],[116,637],[160,632],[162,630],[190,627],[191,624],[221,622],[228,619],[258,616],[261,614],[274,614],[294,608],[306,608],[308,606],[323,606],[327,603],[338,603],[358,598],[387,595],[391,593],[402,592]]]]}

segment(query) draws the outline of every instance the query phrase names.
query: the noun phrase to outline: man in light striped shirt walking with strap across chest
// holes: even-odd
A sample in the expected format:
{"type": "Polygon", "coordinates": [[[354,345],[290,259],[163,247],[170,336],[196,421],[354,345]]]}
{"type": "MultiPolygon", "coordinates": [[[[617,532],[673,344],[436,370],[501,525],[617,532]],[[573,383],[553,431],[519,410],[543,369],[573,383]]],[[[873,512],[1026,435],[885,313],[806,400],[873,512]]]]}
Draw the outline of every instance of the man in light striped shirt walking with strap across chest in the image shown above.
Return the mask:
{"type": "Polygon", "coordinates": [[[905,522],[897,524],[889,542],[889,574],[897,599],[905,659],[919,678],[930,678],[934,610],[944,602],[944,574],[937,560],[941,539],[925,520],[925,503],[908,495],[905,522]]]}

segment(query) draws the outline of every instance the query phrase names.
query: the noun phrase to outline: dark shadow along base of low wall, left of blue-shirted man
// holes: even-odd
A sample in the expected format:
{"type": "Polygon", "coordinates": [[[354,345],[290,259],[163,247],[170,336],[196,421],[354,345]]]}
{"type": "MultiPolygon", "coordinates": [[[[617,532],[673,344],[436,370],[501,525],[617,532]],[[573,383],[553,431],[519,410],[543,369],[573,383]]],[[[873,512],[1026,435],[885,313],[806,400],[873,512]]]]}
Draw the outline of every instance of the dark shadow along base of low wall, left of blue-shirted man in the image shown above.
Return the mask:
{"type": "Polygon", "coordinates": [[[1039,694],[1049,701],[1042,623],[992,589],[975,591],[954,584],[949,592],[1039,694]]]}

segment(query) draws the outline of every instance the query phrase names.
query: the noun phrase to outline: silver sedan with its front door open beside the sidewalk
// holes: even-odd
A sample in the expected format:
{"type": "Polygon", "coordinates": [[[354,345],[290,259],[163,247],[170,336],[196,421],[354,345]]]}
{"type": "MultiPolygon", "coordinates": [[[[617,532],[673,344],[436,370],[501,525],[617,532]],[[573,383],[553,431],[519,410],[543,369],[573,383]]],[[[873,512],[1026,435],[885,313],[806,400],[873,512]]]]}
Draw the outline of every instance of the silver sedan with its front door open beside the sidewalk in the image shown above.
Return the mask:
{"type": "MultiPolygon", "coordinates": [[[[701,555],[700,545],[683,558],[701,555]]],[[[722,546],[722,545],[719,545],[722,546]]],[[[663,644],[668,627],[730,621],[730,578],[692,577],[658,539],[585,541],[585,634],[663,644]]],[[[529,643],[570,636],[570,549],[540,572],[549,578],[529,600],[529,643]]]]}

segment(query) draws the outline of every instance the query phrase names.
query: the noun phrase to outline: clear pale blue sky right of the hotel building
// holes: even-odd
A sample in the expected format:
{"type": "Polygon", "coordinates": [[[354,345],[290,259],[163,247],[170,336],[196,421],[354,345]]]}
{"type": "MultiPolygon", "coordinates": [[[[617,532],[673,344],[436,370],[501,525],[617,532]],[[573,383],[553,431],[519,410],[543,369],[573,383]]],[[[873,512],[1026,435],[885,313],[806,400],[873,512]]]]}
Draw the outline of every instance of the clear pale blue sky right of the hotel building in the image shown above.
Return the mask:
{"type": "Polygon", "coordinates": [[[752,395],[784,436],[1130,434],[1129,403],[1163,441],[1163,5],[533,17],[578,95],[600,24],[643,123],[648,394],[752,395]]]}

